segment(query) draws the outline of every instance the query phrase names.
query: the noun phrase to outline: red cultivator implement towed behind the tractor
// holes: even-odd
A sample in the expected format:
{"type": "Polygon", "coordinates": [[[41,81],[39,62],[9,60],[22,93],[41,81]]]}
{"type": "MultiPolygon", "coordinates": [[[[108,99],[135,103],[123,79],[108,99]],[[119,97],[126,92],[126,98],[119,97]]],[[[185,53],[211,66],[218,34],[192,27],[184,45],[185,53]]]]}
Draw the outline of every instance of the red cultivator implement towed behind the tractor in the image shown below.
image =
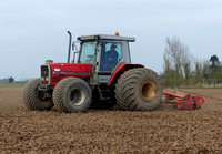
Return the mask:
{"type": "Polygon", "coordinates": [[[181,95],[163,91],[167,103],[175,103],[178,110],[194,110],[200,109],[204,103],[204,99],[200,96],[181,95]]]}

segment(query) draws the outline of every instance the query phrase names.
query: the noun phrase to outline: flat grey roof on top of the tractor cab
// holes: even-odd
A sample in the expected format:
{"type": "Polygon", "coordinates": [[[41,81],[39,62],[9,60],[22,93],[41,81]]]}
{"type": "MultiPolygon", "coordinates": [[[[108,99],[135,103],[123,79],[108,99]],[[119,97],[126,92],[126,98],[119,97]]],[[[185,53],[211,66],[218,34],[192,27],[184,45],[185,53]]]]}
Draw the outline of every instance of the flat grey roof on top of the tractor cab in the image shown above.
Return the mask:
{"type": "Polygon", "coordinates": [[[91,41],[91,40],[115,40],[115,41],[129,41],[134,42],[135,38],[129,37],[119,37],[119,35],[111,35],[111,34],[95,34],[95,35],[81,35],[78,37],[77,40],[79,41],[91,41]]]}

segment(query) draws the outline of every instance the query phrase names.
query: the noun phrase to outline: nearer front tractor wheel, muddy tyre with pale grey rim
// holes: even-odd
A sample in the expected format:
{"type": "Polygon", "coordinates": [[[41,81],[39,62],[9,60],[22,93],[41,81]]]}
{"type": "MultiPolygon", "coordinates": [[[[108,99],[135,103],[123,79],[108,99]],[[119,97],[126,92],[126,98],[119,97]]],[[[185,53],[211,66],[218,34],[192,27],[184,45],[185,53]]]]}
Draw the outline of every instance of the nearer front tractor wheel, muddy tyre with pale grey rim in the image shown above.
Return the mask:
{"type": "Polygon", "coordinates": [[[53,102],[59,112],[83,112],[91,104],[91,89],[78,78],[61,80],[54,88],[53,102]]]}

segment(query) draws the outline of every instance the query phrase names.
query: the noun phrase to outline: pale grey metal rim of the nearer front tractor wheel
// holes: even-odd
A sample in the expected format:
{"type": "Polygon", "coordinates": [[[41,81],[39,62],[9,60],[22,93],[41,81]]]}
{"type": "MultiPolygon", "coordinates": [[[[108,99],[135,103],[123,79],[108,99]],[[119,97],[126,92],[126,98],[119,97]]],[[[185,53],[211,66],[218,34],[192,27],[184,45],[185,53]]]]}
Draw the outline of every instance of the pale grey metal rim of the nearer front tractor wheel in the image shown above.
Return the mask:
{"type": "Polygon", "coordinates": [[[82,89],[73,89],[70,93],[70,102],[72,105],[79,106],[84,103],[87,94],[82,89]]]}

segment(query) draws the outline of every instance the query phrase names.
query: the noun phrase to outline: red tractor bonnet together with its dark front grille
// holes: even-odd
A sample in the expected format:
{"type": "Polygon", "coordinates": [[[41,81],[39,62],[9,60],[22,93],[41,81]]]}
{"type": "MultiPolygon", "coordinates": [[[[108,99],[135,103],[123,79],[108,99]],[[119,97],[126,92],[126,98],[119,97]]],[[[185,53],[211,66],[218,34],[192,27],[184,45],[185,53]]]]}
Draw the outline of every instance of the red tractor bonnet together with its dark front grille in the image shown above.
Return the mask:
{"type": "Polygon", "coordinates": [[[90,76],[91,64],[88,63],[52,63],[41,65],[41,85],[57,85],[69,76],[90,76]]]}

